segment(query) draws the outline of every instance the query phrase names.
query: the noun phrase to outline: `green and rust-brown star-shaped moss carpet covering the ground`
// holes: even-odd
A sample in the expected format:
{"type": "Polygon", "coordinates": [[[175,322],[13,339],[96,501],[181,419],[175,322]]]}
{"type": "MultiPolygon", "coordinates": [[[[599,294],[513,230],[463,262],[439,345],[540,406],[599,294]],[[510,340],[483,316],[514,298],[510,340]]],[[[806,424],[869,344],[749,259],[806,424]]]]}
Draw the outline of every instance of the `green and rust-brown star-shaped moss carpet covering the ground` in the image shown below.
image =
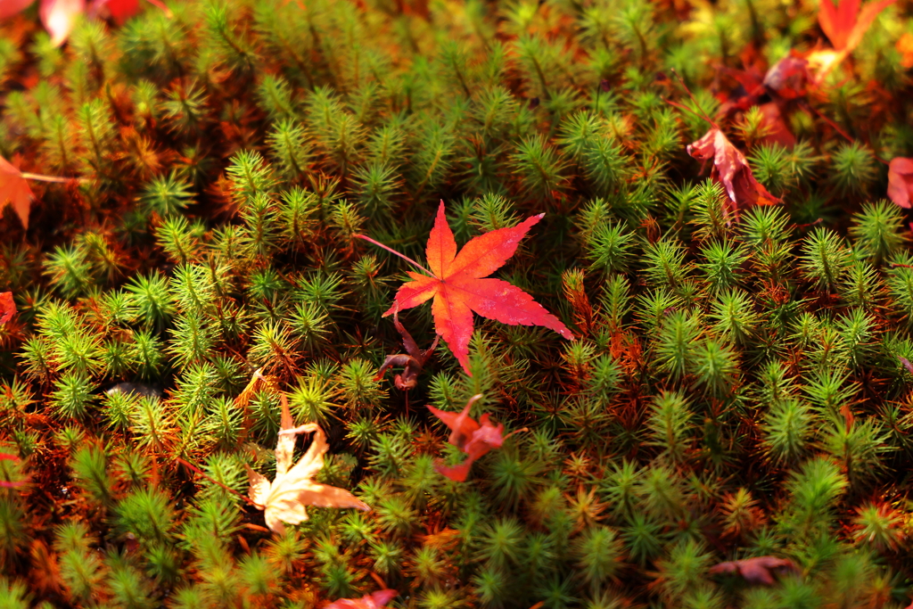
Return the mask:
{"type": "MultiPolygon", "coordinates": [[[[811,2],[238,0],[0,26],[3,606],[901,607],[913,578],[908,4],[806,99],[719,118],[783,204],[737,219],[685,146],[811,2]],[[687,82],[685,94],[671,69],[687,82]],[[575,341],[477,318],[404,394],[383,358],[438,201],[457,241],[545,213],[498,277],[575,341]],[[275,374],[368,513],[264,528],[275,374]],[[109,391],[119,383],[125,391],[109,391]],[[466,483],[425,404],[509,431],[466,483]],[[200,476],[180,459],[202,468],[200,476]],[[214,484],[212,480],[219,484],[214,484]],[[225,488],[236,491],[231,493],[225,488]],[[774,585],[711,575],[792,560],[774,585]]],[[[422,347],[429,307],[404,312],[422,347]]]]}

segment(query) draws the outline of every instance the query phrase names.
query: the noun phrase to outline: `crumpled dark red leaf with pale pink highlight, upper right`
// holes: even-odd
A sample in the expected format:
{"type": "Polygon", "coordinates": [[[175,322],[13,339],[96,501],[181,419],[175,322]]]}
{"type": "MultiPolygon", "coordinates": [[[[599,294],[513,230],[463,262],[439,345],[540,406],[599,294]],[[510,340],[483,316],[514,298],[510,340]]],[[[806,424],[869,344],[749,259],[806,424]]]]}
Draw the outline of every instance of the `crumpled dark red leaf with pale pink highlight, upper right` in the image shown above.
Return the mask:
{"type": "Polygon", "coordinates": [[[711,177],[718,180],[729,194],[732,215],[739,217],[741,209],[752,205],[773,205],[780,199],[767,192],[751,173],[745,155],[732,145],[719,128],[713,128],[697,142],[688,144],[687,152],[696,159],[713,159],[711,177]]]}

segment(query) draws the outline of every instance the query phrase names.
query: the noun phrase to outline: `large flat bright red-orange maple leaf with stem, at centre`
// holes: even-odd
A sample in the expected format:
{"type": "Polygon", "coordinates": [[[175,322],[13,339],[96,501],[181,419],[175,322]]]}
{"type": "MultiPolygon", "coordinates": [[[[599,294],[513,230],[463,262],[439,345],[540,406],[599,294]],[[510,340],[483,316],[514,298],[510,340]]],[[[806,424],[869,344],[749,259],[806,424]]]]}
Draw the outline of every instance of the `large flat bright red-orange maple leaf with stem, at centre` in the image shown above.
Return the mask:
{"type": "MultiPolygon", "coordinates": [[[[529,294],[502,279],[487,278],[513,256],[520,239],[543,215],[533,215],[518,226],[498,228],[473,237],[457,254],[456,240],[447,225],[444,201],[441,201],[435,227],[428,236],[426,253],[431,270],[419,266],[427,275],[410,271],[412,281],[400,286],[394,305],[383,314],[384,317],[434,299],[431,311],[435,316],[435,330],[456,355],[463,370],[470,375],[469,338],[472,336],[473,311],[489,320],[510,325],[544,326],[566,339],[572,339],[571,331],[561,320],[529,294]]],[[[386,248],[373,239],[362,238],[386,248]]]]}

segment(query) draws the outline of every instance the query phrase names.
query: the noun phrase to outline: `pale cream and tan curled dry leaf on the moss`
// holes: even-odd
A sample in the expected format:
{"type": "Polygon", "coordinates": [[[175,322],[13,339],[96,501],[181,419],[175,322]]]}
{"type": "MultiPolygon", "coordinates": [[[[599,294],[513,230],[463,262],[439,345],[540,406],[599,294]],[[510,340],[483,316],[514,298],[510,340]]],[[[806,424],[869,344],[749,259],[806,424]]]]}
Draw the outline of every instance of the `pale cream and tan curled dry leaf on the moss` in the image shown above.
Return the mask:
{"type": "Polygon", "coordinates": [[[327,438],[316,423],[295,427],[288,399],[285,394],[280,394],[279,398],[282,421],[276,443],[276,478],[270,482],[262,474],[247,467],[250,499],[257,508],[265,510],[269,530],[282,533],[285,531],[283,522],[299,524],[308,520],[305,506],[370,510],[368,504],[356,499],[348,490],[313,481],[320,467],[323,467],[323,456],[329,448],[327,438]],[[291,467],[296,436],[311,433],[314,437],[307,452],[291,467]]]}

